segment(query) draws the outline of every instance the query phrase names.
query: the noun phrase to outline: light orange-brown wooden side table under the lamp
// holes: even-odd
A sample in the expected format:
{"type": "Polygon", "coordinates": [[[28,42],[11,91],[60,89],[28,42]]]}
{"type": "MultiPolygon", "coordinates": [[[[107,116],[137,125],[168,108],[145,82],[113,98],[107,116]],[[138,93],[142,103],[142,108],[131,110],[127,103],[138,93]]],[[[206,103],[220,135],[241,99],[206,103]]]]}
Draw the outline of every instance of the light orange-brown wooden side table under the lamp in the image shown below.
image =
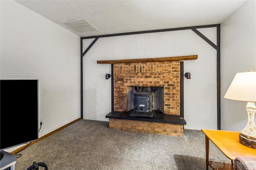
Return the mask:
{"type": "Polygon", "coordinates": [[[206,170],[208,167],[218,170],[233,170],[233,160],[236,156],[248,156],[256,158],[256,149],[244,146],[239,142],[239,133],[225,130],[208,130],[202,129],[205,134],[206,149],[206,170]],[[210,140],[220,149],[220,151],[231,160],[230,164],[217,165],[213,161],[209,161],[209,145],[210,140]],[[214,167],[217,165],[218,167],[214,167]]]}

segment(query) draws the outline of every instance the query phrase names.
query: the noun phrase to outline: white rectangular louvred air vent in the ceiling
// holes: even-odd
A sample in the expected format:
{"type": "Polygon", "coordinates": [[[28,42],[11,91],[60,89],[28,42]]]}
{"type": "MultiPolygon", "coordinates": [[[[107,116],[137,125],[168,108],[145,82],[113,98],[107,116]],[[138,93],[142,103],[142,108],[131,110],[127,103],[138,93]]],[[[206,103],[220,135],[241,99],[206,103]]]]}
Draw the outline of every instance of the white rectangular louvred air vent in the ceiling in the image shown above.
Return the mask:
{"type": "Polygon", "coordinates": [[[95,31],[98,30],[92,24],[90,24],[85,19],[77,19],[77,20],[68,20],[68,21],[61,21],[62,24],[72,28],[76,32],[86,32],[86,31],[95,31]]]}

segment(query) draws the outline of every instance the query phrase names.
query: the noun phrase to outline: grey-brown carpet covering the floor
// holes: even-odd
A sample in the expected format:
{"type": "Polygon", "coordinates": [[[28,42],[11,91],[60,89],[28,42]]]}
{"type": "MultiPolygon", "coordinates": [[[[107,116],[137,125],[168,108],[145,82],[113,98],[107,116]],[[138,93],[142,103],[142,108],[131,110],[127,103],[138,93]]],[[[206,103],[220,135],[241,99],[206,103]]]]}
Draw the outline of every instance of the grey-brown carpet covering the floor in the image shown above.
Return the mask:
{"type": "MultiPolygon", "coordinates": [[[[33,162],[44,162],[48,170],[206,169],[200,130],[185,129],[184,137],[175,137],[109,129],[103,121],[77,121],[18,154],[15,170],[33,162]]],[[[212,142],[210,160],[230,162],[212,142]]]]}

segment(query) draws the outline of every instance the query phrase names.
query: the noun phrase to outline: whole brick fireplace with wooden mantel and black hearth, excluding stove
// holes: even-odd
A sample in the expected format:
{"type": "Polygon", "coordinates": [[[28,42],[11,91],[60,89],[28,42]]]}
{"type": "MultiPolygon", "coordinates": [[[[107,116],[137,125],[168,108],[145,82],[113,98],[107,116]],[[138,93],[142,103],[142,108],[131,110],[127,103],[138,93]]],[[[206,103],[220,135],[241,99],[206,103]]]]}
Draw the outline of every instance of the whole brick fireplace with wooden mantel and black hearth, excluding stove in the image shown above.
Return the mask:
{"type": "Polygon", "coordinates": [[[109,118],[109,128],[183,136],[186,121],[180,115],[180,61],[196,58],[197,55],[190,55],[108,61],[113,64],[114,93],[114,111],[106,115],[109,118]],[[155,114],[154,119],[130,117],[128,98],[131,87],[161,87],[163,114],[155,114]]]}

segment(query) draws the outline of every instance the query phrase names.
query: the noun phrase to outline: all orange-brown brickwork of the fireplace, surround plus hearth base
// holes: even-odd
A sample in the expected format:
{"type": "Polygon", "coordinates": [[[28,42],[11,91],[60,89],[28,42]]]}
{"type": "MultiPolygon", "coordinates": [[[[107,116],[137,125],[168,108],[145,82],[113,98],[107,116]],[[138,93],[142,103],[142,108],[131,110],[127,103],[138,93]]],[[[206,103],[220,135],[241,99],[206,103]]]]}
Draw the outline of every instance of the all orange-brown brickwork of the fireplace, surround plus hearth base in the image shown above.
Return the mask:
{"type": "MultiPolygon", "coordinates": [[[[164,114],[180,115],[180,61],[114,65],[114,111],[127,111],[127,87],[163,87],[164,114]]],[[[183,125],[109,119],[109,128],[183,136],[183,125]]]]}

